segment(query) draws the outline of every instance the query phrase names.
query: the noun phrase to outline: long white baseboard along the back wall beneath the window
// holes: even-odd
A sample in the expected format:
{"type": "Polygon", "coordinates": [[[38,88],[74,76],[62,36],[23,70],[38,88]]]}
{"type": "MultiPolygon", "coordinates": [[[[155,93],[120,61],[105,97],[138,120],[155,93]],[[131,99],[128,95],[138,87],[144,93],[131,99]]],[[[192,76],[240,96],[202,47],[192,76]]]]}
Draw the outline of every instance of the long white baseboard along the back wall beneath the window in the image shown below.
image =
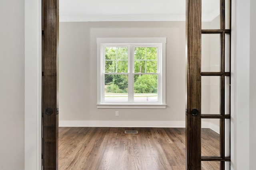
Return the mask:
{"type": "Polygon", "coordinates": [[[185,127],[185,121],[59,121],[59,127],[185,127]]]}

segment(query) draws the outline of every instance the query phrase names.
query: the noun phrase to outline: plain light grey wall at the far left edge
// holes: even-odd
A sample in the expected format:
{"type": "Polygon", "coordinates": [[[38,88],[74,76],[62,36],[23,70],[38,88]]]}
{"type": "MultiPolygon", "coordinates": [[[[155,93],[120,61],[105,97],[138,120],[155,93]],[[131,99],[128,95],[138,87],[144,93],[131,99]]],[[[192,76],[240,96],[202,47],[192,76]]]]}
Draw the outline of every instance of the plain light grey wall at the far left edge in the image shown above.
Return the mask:
{"type": "Polygon", "coordinates": [[[1,0],[0,21],[0,170],[24,170],[24,0],[1,0]]]}

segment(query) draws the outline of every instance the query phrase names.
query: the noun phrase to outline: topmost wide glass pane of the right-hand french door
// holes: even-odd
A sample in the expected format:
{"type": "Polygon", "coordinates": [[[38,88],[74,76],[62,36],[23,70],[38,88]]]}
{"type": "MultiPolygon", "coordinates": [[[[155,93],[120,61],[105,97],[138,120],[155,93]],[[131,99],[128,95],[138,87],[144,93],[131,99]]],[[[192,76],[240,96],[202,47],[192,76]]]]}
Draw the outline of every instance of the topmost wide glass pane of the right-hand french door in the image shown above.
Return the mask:
{"type": "Polygon", "coordinates": [[[202,29],[220,29],[219,0],[202,0],[202,29]]]}

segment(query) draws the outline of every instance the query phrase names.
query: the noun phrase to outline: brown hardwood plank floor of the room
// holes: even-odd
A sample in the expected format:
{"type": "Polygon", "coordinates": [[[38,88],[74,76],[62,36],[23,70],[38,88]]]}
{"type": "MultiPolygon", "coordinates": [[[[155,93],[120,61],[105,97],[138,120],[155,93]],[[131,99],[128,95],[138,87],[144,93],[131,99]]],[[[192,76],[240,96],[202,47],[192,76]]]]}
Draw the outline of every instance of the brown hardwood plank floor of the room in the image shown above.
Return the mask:
{"type": "MultiPolygon", "coordinates": [[[[202,129],[202,153],[220,150],[218,136],[202,129]]],[[[59,170],[184,170],[185,152],[185,128],[59,128],[59,170]]],[[[219,163],[204,162],[202,169],[217,170],[219,163]]]]}

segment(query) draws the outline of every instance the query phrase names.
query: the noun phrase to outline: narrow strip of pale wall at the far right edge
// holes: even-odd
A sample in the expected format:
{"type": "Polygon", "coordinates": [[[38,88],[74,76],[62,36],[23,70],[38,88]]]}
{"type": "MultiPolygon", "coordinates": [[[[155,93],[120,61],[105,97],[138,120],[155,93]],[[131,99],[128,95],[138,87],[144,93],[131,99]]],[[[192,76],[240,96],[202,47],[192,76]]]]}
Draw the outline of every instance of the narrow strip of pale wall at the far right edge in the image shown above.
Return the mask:
{"type": "Polygon", "coordinates": [[[254,170],[256,160],[256,1],[250,0],[250,170],[254,170]]]}

